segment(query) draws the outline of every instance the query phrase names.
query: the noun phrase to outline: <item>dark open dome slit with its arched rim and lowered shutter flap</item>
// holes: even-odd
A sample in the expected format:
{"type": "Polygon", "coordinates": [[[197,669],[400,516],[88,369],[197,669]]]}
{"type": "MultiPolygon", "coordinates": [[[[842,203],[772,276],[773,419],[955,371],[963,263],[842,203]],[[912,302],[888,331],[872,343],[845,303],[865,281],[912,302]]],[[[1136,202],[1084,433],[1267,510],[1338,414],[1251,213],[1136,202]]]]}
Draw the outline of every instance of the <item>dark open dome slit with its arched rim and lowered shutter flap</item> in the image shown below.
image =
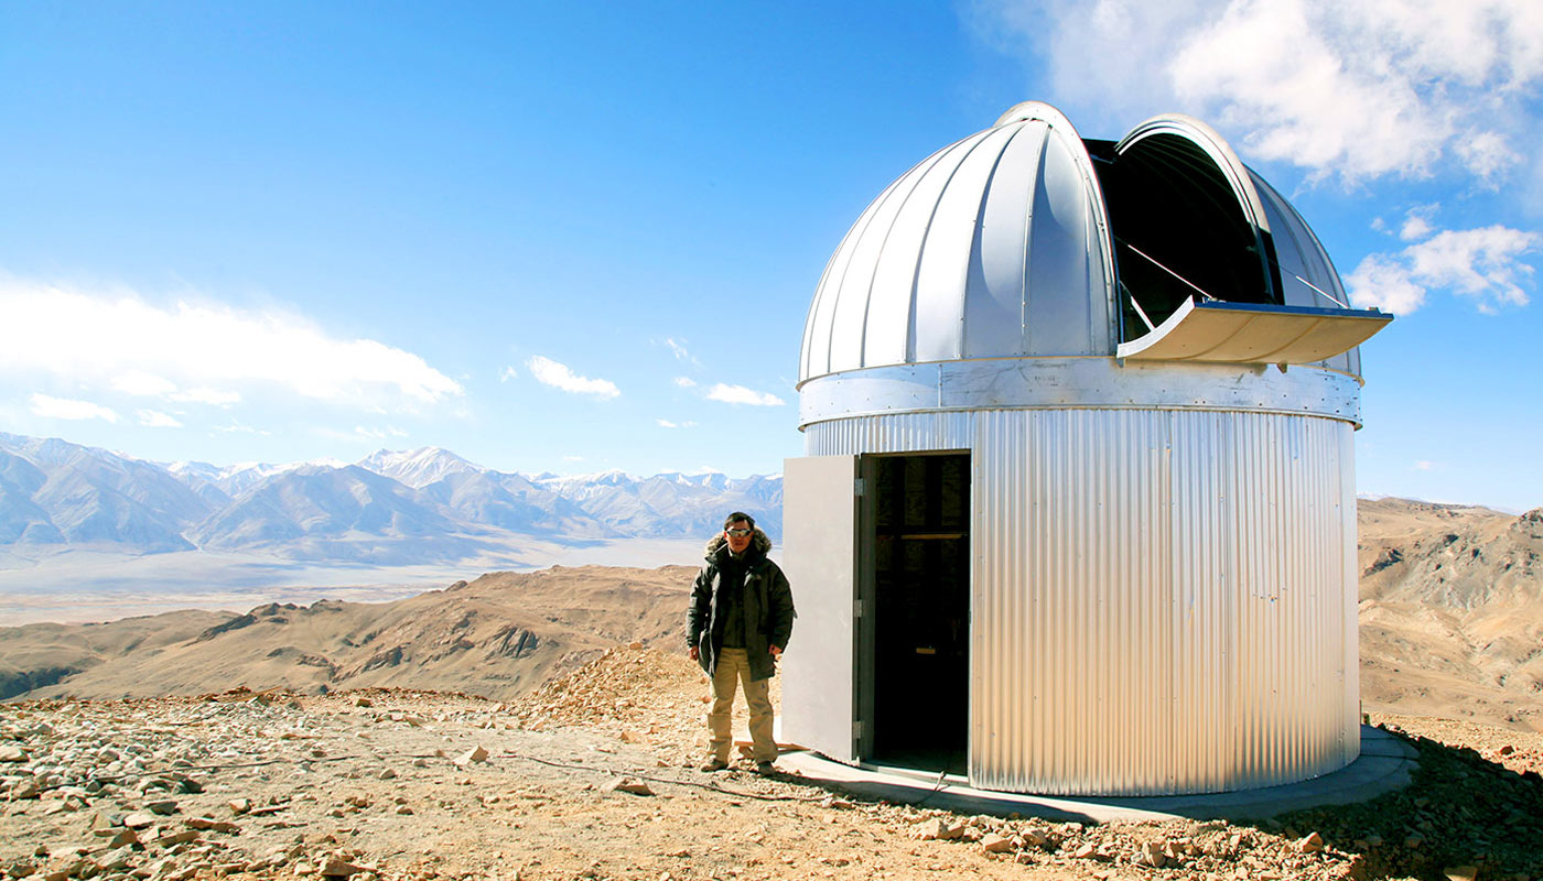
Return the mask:
{"type": "MultiPolygon", "coordinates": [[[[1302,278],[1308,270],[1298,265],[1301,259],[1282,265],[1276,235],[1290,238],[1293,256],[1302,236],[1271,230],[1254,174],[1204,122],[1153,117],[1106,156],[1126,298],[1117,358],[1321,364],[1392,321],[1347,309],[1342,290],[1336,298],[1302,278]],[[1310,305],[1296,287],[1312,292],[1310,305]]],[[[1268,196],[1275,207],[1279,196],[1268,196]]],[[[1285,219],[1279,207],[1275,213],[1285,219]]],[[[1310,244],[1321,250],[1316,239],[1310,244]]],[[[1325,275],[1319,282],[1338,289],[1325,275]]]]}

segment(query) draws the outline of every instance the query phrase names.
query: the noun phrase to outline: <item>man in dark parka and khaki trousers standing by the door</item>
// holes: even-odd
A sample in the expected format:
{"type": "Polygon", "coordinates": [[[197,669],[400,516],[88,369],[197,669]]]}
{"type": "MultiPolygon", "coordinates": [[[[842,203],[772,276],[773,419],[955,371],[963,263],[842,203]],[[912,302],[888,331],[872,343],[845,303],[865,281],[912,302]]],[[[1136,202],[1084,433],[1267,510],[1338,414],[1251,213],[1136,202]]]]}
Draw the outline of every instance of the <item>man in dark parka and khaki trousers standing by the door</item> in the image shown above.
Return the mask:
{"type": "Polygon", "coordinates": [[[713,679],[713,711],[707,716],[711,754],[702,764],[704,771],[728,767],[736,682],[744,684],[750,708],[756,771],[772,773],[776,761],[770,680],[798,613],[787,576],[767,559],[768,551],[772,538],[756,528],[753,517],[734,511],[724,520],[724,531],[707,543],[707,563],[691,588],[687,646],[691,660],[713,679]]]}

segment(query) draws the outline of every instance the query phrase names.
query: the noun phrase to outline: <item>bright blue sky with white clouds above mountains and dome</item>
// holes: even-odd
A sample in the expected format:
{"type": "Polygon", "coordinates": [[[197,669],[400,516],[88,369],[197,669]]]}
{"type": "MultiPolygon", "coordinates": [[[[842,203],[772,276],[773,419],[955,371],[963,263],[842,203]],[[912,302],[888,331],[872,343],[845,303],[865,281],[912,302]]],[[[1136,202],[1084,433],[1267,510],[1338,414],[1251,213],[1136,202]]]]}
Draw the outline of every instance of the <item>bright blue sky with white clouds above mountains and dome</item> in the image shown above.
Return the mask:
{"type": "Polygon", "coordinates": [[[1362,305],[1361,492],[1543,505],[1532,0],[8,3],[0,430],[776,472],[864,205],[1011,105],[1194,114],[1362,305]]]}

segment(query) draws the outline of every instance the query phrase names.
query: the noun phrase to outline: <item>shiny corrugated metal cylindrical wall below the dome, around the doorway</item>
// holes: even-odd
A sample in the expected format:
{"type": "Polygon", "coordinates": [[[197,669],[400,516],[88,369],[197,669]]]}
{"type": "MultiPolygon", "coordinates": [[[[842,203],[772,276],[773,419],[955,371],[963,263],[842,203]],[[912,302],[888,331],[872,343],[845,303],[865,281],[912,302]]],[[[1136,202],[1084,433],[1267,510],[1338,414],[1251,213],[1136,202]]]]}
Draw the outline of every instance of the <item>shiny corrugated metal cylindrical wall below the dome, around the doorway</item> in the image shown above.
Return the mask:
{"type": "Polygon", "coordinates": [[[1359,753],[1350,423],[909,413],[809,426],[807,449],[972,452],[977,785],[1216,792],[1359,753]]]}

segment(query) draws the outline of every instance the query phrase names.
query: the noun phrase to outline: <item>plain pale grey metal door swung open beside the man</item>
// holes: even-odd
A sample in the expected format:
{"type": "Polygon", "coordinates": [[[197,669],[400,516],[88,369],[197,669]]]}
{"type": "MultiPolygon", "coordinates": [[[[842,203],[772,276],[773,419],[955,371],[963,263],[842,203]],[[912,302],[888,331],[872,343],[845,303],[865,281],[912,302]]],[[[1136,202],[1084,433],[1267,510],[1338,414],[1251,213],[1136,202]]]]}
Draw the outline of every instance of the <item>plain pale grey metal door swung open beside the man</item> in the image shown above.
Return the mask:
{"type": "Polygon", "coordinates": [[[798,605],[782,663],[782,741],[856,762],[858,458],[790,458],[782,474],[782,571],[798,605]]]}

